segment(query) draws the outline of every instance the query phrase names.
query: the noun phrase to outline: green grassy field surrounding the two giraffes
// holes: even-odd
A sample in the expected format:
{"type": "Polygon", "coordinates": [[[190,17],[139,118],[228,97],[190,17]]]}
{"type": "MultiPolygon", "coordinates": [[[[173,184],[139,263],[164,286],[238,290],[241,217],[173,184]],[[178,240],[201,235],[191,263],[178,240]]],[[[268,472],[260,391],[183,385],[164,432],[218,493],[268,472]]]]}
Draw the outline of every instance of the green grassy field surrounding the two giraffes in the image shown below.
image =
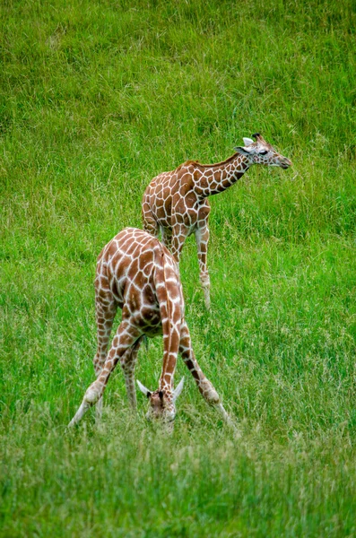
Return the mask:
{"type": "MultiPolygon", "coordinates": [[[[0,536],[356,535],[352,0],[3,0],[0,536]],[[117,369],[99,428],[96,256],[144,187],[256,131],[293,161],[213,197],[212,303],[181,262],[195,354],[166,438],[117,369]]],[[[137,377],[157,386],[160,339],[137,377]]],[[[185,373],[179,363],[177,379],[185,373]]]]}

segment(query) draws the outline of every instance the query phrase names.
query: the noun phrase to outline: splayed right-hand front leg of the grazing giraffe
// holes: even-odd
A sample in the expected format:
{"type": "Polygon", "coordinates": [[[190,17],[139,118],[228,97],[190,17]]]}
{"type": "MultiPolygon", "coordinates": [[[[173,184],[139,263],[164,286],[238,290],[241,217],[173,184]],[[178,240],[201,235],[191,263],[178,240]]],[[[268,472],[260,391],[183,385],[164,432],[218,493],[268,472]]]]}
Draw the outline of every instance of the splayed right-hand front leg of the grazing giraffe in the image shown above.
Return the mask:
{"type": "Polygon", "coordinates": [[[179,353],[181,354],[187,369],[189,369],[190,373],[195,378],[195,383],[206,402],[213,405],[221,413],[223,420],[232,425],[230,416],[221,404],[220,396],[216,392],[213,383],[204,375],[198,361],[195,359],[189,329],[186,322],[183,322],[180,328],[179,353]]]}

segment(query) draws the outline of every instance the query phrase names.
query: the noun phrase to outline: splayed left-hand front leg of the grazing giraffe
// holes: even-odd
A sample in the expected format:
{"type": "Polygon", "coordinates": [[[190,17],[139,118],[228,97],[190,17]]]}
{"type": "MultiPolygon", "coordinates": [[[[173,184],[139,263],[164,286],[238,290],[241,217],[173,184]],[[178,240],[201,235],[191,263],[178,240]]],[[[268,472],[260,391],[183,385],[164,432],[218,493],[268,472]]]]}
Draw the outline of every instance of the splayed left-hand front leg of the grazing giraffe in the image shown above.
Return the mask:
{"type": "Polygon", "coordinates": [[[135,344],[135,341],[140,336],[141,333],[138,331],[138,329],[136,329],[135,326],[130,325],[128,320],[123,319],[121,321],[100,374],[96,381],[91,383],[91,386],[87,388],[82,399],[82,404],[75,413],[72,421],[69,422],[69,427],[74,426],[74,424],[79,422],[84,413],[87,412],[92,405],[99,402],[108,384],[110,374],[117,365],[117,360],[119,360],[124,353],[135,344]]]}

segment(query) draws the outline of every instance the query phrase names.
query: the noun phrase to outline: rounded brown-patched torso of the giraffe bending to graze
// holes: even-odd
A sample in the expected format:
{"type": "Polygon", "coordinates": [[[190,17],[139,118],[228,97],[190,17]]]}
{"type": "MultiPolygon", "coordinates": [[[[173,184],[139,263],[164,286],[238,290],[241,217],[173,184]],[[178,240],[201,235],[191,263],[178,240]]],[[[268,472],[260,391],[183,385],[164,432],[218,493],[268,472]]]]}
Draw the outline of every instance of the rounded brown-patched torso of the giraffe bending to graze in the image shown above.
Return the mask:
{"type": "Polygon", "coordinates": [[[169,331],[170,314],[182,316],[177,265],[167,248],[143,230],[126,228],[102,249],[95,287],[101,299],[114,299],[143,334],[169,331]]]}

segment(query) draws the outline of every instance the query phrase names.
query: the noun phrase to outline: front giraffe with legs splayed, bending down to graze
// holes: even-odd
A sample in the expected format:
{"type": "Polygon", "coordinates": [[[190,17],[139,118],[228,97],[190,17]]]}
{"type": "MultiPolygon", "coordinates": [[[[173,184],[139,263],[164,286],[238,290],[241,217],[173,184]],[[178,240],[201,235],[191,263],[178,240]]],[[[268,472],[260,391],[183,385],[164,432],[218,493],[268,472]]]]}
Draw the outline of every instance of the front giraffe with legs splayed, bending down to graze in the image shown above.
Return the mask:
{"type": "Polygon", "coordinates": [[[96,380],[86,390],[69,426],[79,422],[95,404],[100,419],[102,395],[118,360],[124,372],[129,402],[133,409],[136,408],[137,353],[144,335],[154,337],[158,334],[163,334],[164,348],[159,388],[149,391],[137,380],[140,390],[149,399],[147,418],[161,419],[166,424],[175,418],[175,403],[184,380],[173,388],[179,352],[206,402],[213,404],[222,418],[231,423],[220,396],[195,359],[184,318],[178,267],[158,239],[143,230],[126,228],[102,249],[95,278],[95,311],[98,348],[93,363],[96,380]],[[107,354],[117,308],[122,309],[122,319],[107,354]]]}

